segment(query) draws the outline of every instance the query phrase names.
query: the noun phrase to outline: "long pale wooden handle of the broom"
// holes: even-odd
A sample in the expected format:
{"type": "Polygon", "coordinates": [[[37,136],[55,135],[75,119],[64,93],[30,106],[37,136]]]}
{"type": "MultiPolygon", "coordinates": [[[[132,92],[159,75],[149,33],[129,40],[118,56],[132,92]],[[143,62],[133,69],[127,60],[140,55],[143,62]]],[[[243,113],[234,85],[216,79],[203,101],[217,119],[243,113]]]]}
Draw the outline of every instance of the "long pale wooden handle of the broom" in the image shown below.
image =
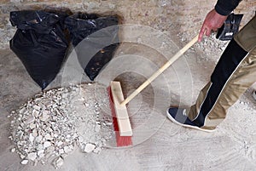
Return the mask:
{"type": "Polygon", "coordinates": [[[186,44],[182,49],[180,49],[177,54],[175,54],[170,60],[166,62],[164,66],[162,66],[158,71],[154,72],[154,74],[148,78],[140,87],[138,87],[132,94],[130,94],[124,101],[120,103],[120,105],[126,105],[129,103],[137,94],[141,93],[144,88],[148,86],[149,83],[153,82],[156,77],[158,77],[163,71],[172,65],[181,55],[183,55],[193,44],[195,44],[198,40],[198,35],[193,38],[188,44],[186,44]]]}

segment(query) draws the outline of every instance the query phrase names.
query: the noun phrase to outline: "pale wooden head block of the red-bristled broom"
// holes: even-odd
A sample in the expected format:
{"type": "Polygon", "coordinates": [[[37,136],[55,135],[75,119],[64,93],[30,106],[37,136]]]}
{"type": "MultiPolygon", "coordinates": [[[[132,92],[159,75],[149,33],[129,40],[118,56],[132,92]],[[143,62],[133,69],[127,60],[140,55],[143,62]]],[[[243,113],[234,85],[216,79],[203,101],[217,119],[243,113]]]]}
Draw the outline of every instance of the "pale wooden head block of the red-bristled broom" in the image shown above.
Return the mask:
{"type": "Polygon", "coordinates": [[[124,94],[122,92],[121,84],[119,82],[110,83],[114,110],[117,117],[117,122],[119,125],[120,136],[131,136],[131,123],[128,116],[127,108],[125,105],[120,105],[120,103],[125,100],[124,94]]]}

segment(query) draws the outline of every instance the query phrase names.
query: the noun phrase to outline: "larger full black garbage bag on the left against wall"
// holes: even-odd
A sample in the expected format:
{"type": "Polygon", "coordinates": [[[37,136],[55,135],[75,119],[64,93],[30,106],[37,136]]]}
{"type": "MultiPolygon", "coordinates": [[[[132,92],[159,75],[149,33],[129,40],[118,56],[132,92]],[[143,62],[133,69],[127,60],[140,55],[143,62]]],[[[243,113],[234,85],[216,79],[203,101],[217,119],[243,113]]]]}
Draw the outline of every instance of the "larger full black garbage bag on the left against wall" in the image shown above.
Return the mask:
{"type": "Polygon", "coordinates": [[[55,79],[65,58],[68,47],[64,32],[66,17],[42,10],[10,13],[11,24],[17,27],[9,42],[10,48],[42,89],[55,79]]]}

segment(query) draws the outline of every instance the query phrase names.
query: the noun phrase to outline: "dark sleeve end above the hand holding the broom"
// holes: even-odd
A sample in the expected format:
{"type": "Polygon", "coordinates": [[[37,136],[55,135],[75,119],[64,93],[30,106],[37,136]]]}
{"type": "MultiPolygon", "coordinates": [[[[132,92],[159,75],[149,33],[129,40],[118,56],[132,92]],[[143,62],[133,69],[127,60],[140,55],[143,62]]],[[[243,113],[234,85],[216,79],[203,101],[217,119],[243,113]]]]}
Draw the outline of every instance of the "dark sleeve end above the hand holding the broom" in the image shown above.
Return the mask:
{"type": "Polygon", "coordinates": [[[236,9],[237,5],[241,2],[241,0],[218,0],[215,5],[215,10],[218,14],[228,15],[234,9],[236,9]]]}

